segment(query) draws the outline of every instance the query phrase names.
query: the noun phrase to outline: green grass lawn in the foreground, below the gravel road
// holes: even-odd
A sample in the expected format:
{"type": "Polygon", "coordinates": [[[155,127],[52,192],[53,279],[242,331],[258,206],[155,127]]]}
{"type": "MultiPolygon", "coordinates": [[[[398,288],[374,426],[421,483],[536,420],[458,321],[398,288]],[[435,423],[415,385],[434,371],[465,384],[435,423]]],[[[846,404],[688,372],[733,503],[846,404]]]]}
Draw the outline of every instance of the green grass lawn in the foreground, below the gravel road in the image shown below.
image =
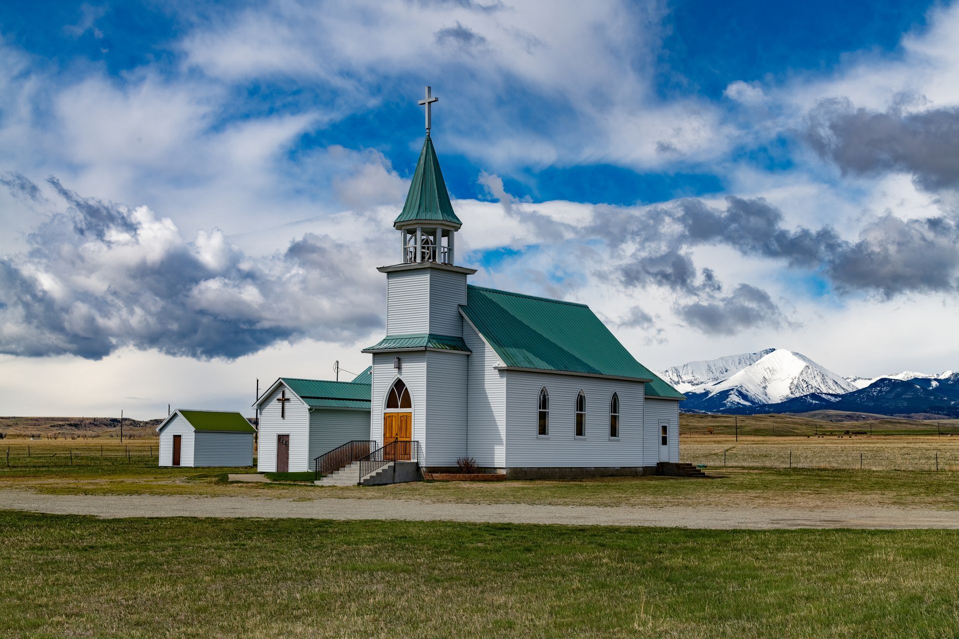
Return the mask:
{"type": "Polygon", "coordinates": [[[955,533],[0,513],[0,636],[954,636],[955,533]]]}

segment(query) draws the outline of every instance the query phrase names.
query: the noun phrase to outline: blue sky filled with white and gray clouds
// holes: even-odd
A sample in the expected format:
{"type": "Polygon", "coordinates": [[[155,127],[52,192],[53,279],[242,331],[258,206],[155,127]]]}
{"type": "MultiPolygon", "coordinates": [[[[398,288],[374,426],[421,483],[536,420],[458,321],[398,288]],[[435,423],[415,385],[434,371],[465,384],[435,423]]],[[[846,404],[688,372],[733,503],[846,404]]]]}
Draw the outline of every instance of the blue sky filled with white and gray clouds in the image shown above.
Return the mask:
{"type": "Polygon", "coordinates": [[[586,302],[652,367],[776,344],[954,368],[950,335],[904,333],[956,309],[956,25],[915,2],[5,3],[0,367],[211,397],[362,367],[429,83],[478,284],[586,302]]]}

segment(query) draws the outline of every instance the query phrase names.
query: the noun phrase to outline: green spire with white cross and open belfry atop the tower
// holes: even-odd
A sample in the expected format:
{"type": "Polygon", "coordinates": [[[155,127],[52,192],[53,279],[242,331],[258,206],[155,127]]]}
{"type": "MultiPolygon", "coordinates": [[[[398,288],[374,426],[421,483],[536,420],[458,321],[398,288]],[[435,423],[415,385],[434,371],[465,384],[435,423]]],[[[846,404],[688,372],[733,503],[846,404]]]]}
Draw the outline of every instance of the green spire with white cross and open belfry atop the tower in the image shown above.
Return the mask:
{"type": "Polygon", "coordinates": [[[403,211],[393,221],[393,227],[402,235],[404,263],[453,264],[454,236],[463,225],[453,211],[430,137],[431,108],[438,100],[433,97],[431,87],[426,87],[426,99],[419,101],[426,106],[426,140],[409,184],[403,211]]]}

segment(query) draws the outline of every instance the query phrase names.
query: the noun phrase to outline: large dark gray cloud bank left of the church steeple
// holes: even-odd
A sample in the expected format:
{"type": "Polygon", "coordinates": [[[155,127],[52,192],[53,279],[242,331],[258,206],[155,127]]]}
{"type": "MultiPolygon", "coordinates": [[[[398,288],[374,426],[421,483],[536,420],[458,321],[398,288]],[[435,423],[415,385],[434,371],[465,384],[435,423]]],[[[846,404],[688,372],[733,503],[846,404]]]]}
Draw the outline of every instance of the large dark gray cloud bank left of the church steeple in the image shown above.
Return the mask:
{"type": "Polygon", "coordinates": [[[372,269],[353,247],[307,234],[253,260],[219,231],[184,240],[169,219],[51,186],[67,203],[0,256],[0,353],[155,349],[233,358],[278,341],[350,341],[382,326],[372,269]]]}

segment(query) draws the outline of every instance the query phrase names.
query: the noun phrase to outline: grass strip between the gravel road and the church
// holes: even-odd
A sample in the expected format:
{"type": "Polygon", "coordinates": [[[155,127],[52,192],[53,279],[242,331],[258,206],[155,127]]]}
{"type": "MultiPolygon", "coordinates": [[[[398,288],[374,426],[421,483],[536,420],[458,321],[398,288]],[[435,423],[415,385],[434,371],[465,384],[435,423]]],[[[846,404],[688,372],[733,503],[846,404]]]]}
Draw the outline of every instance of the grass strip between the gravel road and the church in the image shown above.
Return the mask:
{"type": "MultiPolygon", "coordinates": [[[[709,479],[602,477],[563,481],[419,482],[386,487],[226,483],[250,468],[78,466],[0,468],[0,490],[58,494],[251,495],[292,499],[351,497],[440,503],[570,506],[753,506],[818,508],[915,506],[959,509],[959,472],[803,468],[709,468],[709,479]]],[[[272,474],[272,473],[269,473],[272,474]]],[[[297,478],[300,473],[292,473],[297,478]]],[[[291,479],[292,479],[291,476],[291,479]]],[[[312,473],[303,475],[312,481],[312,473]]],[[[282,481],[282,480],[281,480],[282,481]]],[[[286,480],[289,481],[289,480],[286,480]]]]}

